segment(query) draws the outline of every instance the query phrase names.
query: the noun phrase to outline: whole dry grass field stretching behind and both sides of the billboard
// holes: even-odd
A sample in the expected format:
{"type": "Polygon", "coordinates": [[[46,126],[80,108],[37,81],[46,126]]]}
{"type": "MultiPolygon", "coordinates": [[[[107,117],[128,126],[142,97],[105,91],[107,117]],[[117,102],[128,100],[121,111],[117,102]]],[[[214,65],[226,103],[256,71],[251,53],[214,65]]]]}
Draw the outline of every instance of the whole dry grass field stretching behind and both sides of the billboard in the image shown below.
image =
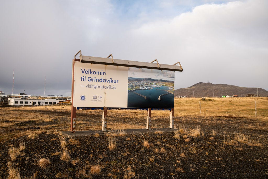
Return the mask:
{"type": "MultiPolygon", "coordinates": [[[[175,124],[177,123],[180,133],[185,133],[185,122],[204,125],[235,125],[243,129],[267,130],[268,125],[268,103],[267,98],[206,98],[202,101],[199,113],[200,98],[175,98],[175,124]],[[257,103],[257,116],[255,116],[255,105],[257,103]],[[221,120],[217,120],[221,118],[221,120]],[[237,119],[244,122],[237,123],[237,119]],[[181,129],[181,130],[180,130],[181,129]]],[[[64,108],[61,106],[38,106],[38,107],[0,107],[1,115],[8,121],[0,121],[0,125],[5,127],[0,133],[0,143],[22,136],[35,138],[39,133],[70,130],[71,106],[64,108]],[[18,124],[24,125],[18,125],[18,124]],[[28,131],[29,126],[40,127],[28,131]],[[51,128],[53,128],[51,130],[51,128]]],[[[109,128],[116,129],[140,129],[145,128],[144,120],[146,111],[109,110],[109,128]],[[135,119],[135,120],[133,120],[135,119]]],[[[152,111],[152,126],[154,128],[168,127],[169,111],[152,111]],[[164,119],[165,118],[165,119],[164,119]]],[[[101,130],[102,111],[101,110],[77,110],[77,130],[101,130]],[[88,120],[88,118],[91,120],[88,120]]],[[[188,125],[188,123],[187,123],[188,125]]],[[[218,131],[217,131],[218,132],[218,131]]],[[[201,131],[200,131],[201,133],[201,131]]],[[[212,135],[216,131],[210,132],[212,135]]],[[[116,134],[119,136],[119,134],[116,134]]],[[[120,134],[123,136],[124,134],[120,134]]],[[[201,134],[200,134],[201,135],[201,134]]],[[[188,137],[188,136],[187,136],[188,137]]],[[[253,145],[253,143],[250,143],[253,145]]],[[[259,145],[255,142],[254,145],[259,145]]]]}

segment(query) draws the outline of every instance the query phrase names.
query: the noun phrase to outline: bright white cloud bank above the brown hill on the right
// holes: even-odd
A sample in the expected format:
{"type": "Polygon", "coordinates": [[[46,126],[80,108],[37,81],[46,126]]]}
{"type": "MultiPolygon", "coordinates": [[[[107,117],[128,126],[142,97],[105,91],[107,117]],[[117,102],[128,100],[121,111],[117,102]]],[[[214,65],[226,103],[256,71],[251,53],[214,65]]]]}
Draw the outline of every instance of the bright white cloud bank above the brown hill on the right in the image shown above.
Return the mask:
{"type": "Polygon", "coordinates": [[[267,5],[267,1],[200,5],[173,19],[133,29],[133,39],[143,44],[133,48],[144,56],[157,55],[159,63],[180,61],[184,71],[176,72],[175,88],[209,80],[246,87],[261,84],[267,89],[254,75],[268,75],[267,5]]]}

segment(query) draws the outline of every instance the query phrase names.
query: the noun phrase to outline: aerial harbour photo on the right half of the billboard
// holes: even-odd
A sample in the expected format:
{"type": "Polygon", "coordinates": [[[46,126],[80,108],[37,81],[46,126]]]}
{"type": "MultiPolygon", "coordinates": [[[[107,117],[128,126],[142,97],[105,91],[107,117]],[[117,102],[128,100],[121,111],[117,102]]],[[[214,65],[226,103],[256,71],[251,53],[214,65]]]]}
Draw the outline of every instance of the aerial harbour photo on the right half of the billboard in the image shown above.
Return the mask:
{"type": "Polygon", "coordinates": [[[128,108],[174,108],[174,71],[129,67],[128,108]]]}

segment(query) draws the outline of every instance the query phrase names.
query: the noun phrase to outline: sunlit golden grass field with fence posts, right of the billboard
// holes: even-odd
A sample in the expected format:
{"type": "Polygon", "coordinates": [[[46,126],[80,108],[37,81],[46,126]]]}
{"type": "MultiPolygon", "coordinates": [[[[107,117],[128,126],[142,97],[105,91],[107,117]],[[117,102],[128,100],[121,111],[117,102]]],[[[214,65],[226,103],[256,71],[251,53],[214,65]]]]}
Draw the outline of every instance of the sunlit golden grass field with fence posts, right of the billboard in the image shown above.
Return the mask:
{"type": "Polygon", "coordinates": [[[233,115],[246,118],[268,119],[267,98],[206,98],[201,101],[201,112],[199,108],[200,98],[175,98],[175,116],[226,116],[233,115]],[[257,104],[257,116],[255,117],[255,101],[257,104]]]}

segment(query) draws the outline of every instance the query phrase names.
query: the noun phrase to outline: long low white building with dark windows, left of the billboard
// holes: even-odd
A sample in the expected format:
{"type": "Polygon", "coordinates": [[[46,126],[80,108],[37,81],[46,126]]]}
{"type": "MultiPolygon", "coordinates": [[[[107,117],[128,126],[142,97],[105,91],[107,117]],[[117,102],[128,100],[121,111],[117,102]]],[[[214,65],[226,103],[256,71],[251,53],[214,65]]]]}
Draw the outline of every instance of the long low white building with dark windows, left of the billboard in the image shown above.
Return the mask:
{"type": "Polygon", "coordinates": [[[56,99],[23,99],[23,98],[8,98],[8,105],[11,106],[39,106],[39,105],[53,105],[59,104],[60,100],[56,99]]]}

